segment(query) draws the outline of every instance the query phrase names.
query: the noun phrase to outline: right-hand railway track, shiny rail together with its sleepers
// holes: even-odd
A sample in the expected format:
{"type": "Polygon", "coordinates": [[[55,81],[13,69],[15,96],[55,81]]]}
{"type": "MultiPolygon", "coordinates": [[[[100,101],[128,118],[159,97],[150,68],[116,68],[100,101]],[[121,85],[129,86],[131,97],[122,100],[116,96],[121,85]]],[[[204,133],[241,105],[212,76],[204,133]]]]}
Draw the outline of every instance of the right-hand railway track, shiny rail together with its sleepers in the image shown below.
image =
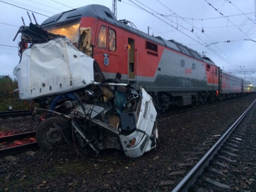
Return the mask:
{"type": "MultiPolygon", "coordinates": [[[[169,174],[170,177],[176,178],[176,180],[180,180],[180,182],[175,186],[172,192],[186,192],[186,191],[201,191],[207,192],[208,190],[205,188],[201,188],[200,186],[212,185],[218,188],[216,191],[222,190],[230,190],[230,186],[227,184],[221,183],[218,180],[214,180],[206,176],[203,176],[205,172],[211,171],[216,174],[220,174],[224,176],[224,172],[218,170],[216,168],[210,167],[212,164],[216,164],[218,166],[226,166],[219,161],[219,159],[226,160],[227,162],[236,162],[236,160],[232,160],[230,157],[236,157],[236,152],[238,151],[236,147],[240,144],[242,140],[242,136],[246,132],[246,126],[250,121],[250,110],[256,103],[256,100],[247,108],[247,110],[224,132],[224,134],[214,134],[212,137],[204,143],[204,146],[200,149],[201,152],[198,155],[203,155],[202,158],[191,157],[186,160],[186,163],[179,164],[178,166],[182,167],[180,171],[175,171],[169,174]],[[228,156],[228,157],[226,157],[228,156]],[[214,159],[214,161],[213,161],[214,159]],[[196,162],[194,164],[194,162],[196,162]],[[188,167],[192,167],[191,170],[186,171],[185,169],[188,167]],[[181,179],[180,177],[183,178],[181,179]],[[198,178],[200,177],[200,182],[198,178]],[[194,184],[197,183],[197,184],[194,184]],[[199,184],[198,184],[199,183],[199,184]],[[206,184],[205,184],[206,183],[206,184]],[[193,185],[194,184],[194,185],[193,185]],[[191,186],[194,187],[191,187],[191,186]]],[[[160,185],[162,186],[170,186],[177,183],[175,180],[166,180],[162,181],[160,185]]],[[[215,191],[213,190],[213,191],[215,191]]]]}

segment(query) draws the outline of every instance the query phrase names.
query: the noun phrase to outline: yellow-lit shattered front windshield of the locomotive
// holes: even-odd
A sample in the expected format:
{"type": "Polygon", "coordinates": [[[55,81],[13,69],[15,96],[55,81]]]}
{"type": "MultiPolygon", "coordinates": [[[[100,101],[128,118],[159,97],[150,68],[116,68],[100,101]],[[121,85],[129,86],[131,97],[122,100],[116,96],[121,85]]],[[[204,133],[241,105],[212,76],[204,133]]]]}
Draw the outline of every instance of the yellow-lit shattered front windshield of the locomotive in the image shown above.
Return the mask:
{"type": "Polygon", "coordinates": [[[72,43],[77,43],[78,42],[78,35],[79,35],[79,23],[72,23],[72,24],[66,24],[62,26],[52,26],[51,28],[46,28],[48,32],[54,33],[54,34],[59,34],[59,35],[64,35],[72,43]]]}

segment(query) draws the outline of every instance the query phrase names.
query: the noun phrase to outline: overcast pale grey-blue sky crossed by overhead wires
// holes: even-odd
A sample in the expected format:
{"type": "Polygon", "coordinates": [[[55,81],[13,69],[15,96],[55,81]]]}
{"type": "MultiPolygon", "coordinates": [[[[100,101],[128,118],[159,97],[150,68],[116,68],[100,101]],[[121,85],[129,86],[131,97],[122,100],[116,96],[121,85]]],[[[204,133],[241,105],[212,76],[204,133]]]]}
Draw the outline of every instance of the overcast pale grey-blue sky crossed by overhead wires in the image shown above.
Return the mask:
{"type": "MultiPolygon", "coordinates": [[[[31,10],[30,15],[34,12],[40,24],[48,16],[88,4],[112,10],[112,0],[1,0],[0,75],[14,78],[20,39],[12,40],[22,25],[21,17],[29,24],[22,8],[31,10]]],[[[220,68],[234,70],[256,68],[255,7],[254,0],[122,0],[117,2],[117,19],[129,20],[146,33],[150,27],[151,35],[176,40],[204,52],[220,68]]]]}

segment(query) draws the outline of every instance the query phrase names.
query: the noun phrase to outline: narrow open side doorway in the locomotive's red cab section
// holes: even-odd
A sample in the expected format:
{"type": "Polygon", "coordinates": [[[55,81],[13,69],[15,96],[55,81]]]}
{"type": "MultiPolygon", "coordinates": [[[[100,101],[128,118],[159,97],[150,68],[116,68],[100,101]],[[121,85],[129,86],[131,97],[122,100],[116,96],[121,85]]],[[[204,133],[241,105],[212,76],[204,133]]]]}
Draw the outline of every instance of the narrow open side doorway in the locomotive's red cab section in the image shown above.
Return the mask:
{"type": "Polygon", "coordinates": [[[134,39],[128,38],[128,83],[134,82],[134,39]]]}

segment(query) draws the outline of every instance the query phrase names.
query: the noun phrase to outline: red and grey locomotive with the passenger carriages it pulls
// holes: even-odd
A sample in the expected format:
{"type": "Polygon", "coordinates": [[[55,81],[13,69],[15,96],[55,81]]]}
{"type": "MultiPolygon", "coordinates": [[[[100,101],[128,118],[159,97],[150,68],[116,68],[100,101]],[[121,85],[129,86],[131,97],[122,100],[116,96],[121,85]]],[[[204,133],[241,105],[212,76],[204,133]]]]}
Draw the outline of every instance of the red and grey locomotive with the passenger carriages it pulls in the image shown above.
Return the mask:
{"type": "Polygon", "coordinates": [[[56,14],[41,26],[67,36],[94,58],[106,78],[144,86],[158,109],[198,105],[250,92],[250,83],[228,74],[174,40],[153,37],[118,21],[109,8],[88,5],[56,14]]]}

